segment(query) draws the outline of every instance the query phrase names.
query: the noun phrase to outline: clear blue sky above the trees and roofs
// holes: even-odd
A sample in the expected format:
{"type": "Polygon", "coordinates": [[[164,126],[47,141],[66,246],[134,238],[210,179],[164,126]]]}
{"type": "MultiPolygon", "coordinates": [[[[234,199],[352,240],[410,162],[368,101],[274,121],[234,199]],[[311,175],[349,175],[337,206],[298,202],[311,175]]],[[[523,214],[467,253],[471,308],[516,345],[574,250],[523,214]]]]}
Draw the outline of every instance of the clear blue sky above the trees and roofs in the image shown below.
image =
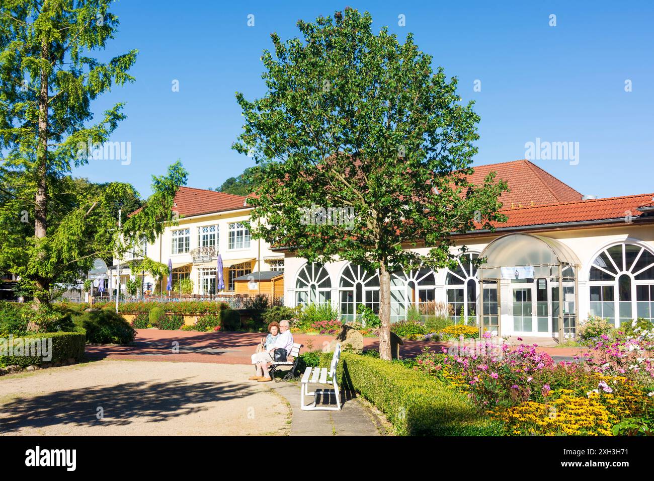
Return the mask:
{"type": "Polygon", "coordinates": [[[459,79],[476,101],[475,165],[525,157],[525,143],[579,142],[579,164],[536,164],[583,194],[654,191],[654,7],[628,2],[218,2],[122,0],[120,30],[101,58],[138,48],[136,82],[94,103],[101,113],[126,101],[112,135],[131,142],[131,164],[91,161],[75,175],[130,182],[150,194],[150,175],[180,158],[190,187],[217,187],[253,164],[230,146],[241,132],[234,93],[262,96],[260,56],[269,34],[298,36],[296,22],[349,5],[388,26],[459,79]],[[254,27],[247,16],[254,15],[254,27]],[[405,15],[405,27],[398,15],[405,15]],[[549,15],[557,26],[549,26],[549,15]],[[171,82],[179,80],[179,92],[171,82]],[[481,80],[481,92],[473,82],[481,80]],[[625,92],[625,80],[632,92],[625,92]]]}

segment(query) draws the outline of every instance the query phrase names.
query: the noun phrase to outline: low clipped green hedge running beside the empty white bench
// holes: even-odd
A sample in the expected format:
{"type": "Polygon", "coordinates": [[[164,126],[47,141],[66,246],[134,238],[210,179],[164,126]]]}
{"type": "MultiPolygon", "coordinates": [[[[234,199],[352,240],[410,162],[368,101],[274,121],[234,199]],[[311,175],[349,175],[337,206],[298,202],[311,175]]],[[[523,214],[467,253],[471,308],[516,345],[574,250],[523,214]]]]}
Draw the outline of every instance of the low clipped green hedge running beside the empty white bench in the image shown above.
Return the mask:
{"type": "MultiPolygon", "coordinates": [[[[328,367],[332,354],[320,357],[328,367]]],[[[499,435],[500,426],[485,418],[462,395],[439,380],[372,356],[341,353],[337,378],[377,406],[400,436],[499,435]]]]}

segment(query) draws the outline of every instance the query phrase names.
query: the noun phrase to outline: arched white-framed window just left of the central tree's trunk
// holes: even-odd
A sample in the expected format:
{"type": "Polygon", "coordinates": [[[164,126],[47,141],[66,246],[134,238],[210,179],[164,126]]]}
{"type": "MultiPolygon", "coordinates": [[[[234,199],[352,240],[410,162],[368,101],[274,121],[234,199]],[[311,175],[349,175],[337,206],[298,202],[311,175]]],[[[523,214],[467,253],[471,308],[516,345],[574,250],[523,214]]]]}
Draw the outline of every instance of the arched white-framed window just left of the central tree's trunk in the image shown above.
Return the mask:
{"type": "Polygon", "coordinates": [[[359,316],[356,310],[360,304],[379,313],[379,274],[367,271],[361,266],[347,264],[339,281],[341,293],[341,319],[354,321],[359,316]]]}

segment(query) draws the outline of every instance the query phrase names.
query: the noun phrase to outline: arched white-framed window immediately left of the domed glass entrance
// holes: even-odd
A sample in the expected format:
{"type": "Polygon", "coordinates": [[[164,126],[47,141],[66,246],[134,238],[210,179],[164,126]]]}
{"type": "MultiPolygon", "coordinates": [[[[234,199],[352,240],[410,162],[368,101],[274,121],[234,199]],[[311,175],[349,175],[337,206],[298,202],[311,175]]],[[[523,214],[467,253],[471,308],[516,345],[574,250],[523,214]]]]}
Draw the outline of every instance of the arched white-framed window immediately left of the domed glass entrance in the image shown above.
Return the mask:
{"type": "Polygon", "coordinates": [[[466,323],[468,317],[474,317],[477,313],[477,268],[472,264],[472,259],[477,257],[479,254],[468,253],[456,261],[454,270],[447,270],[447,304],[452,306],[456,323],[466,323]]]}

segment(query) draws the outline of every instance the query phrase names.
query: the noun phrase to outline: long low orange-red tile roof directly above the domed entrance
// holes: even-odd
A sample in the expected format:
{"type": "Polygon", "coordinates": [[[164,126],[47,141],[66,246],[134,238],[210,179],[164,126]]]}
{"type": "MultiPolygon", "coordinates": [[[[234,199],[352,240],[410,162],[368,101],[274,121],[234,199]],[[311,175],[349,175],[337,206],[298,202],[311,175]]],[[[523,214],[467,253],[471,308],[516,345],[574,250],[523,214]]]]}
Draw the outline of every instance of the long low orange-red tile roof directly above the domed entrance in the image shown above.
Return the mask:
{"type": "Polygon", "coordinates": [[[608,197],[550,205],[535,205],[516,209],[502,209],[508,216],[506,223],[496,228],[519,228],[542,224],[562,224],[584,221],[609,221],[614,219],[638,219],[643,215],[638,207],[652,204],[654,194],[608,197]]]}

